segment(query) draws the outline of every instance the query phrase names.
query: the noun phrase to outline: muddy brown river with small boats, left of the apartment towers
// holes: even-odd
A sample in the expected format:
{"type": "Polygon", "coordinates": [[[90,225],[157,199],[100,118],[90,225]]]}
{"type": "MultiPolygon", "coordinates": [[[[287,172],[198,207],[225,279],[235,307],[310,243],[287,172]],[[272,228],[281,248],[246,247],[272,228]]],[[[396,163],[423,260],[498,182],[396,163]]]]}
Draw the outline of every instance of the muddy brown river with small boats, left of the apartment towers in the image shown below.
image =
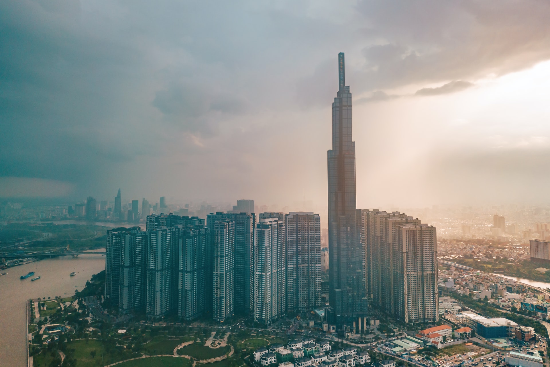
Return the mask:
{"type": "Polygon", "coordinates": [[[29,298],[68,297],[75,289],[82,291],[91,276],[105,270],[104,255],[79,255],[45,259],[2,272],[0,276],[0,361],[5,367],[25,367],[26,357],[26,308],[29,298]],[[34,271],[36,281],[20,280],[21,275],[34,271]],[[70,273],[76,271],[75,276],[70,273]]]}

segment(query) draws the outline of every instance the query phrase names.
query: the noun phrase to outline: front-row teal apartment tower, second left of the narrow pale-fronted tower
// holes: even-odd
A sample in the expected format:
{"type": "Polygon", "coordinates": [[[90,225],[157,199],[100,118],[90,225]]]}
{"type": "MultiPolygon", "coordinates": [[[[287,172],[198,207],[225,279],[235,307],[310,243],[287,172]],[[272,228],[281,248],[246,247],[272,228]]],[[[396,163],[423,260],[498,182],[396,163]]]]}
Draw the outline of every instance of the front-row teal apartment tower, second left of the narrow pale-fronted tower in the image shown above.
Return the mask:
{"type": "Polygon", "coordinates": [[[179,228],[152,229],[147,251],[147,316],[156,318],[174,309],[175,250],[179,243],[179,228]]]}

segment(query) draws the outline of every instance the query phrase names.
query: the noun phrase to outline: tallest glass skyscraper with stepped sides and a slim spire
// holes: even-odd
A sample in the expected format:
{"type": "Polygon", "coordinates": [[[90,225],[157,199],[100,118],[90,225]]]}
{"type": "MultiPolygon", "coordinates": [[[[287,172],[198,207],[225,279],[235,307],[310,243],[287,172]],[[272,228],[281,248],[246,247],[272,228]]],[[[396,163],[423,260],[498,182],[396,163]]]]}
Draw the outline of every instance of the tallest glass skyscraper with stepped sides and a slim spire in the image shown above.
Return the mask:
{"type": "Polygon", "coordinates": [[[357,233],[355,141],[351,140],[351,93],[345,85],[344,53],[338,54],[338,94],[332,103],[332,149],[328,151],[329,302],[337,324],[366,311],[364,250],[357,233]]]}

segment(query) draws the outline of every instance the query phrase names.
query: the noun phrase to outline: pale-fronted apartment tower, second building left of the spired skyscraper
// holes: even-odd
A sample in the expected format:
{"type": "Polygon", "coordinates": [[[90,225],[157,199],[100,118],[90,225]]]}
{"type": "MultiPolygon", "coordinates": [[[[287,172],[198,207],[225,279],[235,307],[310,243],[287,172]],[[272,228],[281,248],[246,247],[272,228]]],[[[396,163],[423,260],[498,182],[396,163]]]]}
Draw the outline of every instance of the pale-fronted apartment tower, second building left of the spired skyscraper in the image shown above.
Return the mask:
{"type": "Polygon", "coordinates": [[[284,223],[278,218],[264,218],[256,224],[254,320],[265,325],[286,312],[284,236],[284,223]]]}

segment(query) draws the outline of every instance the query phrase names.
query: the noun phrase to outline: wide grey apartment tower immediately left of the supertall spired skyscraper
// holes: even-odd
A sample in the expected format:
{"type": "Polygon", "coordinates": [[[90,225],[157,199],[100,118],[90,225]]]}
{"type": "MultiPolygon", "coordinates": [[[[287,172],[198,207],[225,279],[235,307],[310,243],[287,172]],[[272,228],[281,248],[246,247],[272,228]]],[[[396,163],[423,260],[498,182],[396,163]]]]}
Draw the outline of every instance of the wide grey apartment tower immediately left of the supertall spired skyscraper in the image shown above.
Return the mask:
{"type": "Polygon", "coordinates": [[[285,216],[287,310],[321,306],[321,217],[313,212],[285,216]]]}

